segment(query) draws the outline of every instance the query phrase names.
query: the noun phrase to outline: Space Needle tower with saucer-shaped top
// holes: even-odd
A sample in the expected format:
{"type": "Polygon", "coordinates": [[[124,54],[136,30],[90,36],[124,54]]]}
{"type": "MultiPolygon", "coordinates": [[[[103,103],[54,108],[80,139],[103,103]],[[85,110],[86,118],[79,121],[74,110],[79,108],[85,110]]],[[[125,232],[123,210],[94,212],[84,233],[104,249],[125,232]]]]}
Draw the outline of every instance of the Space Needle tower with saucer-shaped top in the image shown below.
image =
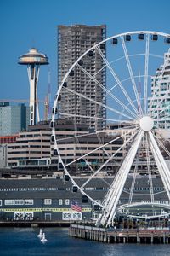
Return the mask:
{"type": "Polygon", "coordinates": [[[41,65],[48,65],[48,57],[39,53],[36,48],[21,55],[18,63],[27,65],[28,78],[30,82],[30,125],[36,125],[36,121],[40,121],[39,108],[37,100],[37,82],[41,65]]]}

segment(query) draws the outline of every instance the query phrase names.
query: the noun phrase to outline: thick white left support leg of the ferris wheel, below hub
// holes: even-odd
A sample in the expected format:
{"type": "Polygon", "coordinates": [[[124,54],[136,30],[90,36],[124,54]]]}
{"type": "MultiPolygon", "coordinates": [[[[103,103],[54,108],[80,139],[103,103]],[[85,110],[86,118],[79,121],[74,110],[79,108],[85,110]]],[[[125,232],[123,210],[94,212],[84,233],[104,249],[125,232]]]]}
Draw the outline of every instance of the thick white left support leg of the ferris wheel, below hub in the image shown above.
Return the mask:
{"type": "Polygon", "coordinates": [[[127,175],[133,165],[133,160],[139,148],[142,137],[144,136],[144,131],[139,131],[138,136],[136,137],[132,147],[130,148],[125,160],[122,163],[122,166],[119,172],[116,175],[113,183],[111,184],[110,192],[105,199],[105,210],[99,216],[97,223],[105,224],[106,226],[111,224],[112,219],[116,214],[116,206],[122,194],[122,189],[127,180],[127,175]]]}

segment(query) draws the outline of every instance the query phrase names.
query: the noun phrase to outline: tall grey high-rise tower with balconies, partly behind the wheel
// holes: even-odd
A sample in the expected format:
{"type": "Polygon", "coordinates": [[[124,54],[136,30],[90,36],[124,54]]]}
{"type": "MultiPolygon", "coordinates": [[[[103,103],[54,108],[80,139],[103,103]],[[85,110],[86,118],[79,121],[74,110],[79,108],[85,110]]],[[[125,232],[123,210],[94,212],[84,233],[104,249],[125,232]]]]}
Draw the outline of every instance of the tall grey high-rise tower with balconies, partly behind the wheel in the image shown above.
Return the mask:
{"type": "MultiPolygon", "coordinates": [[[[104,40],[106,37],[106,26],[58,26],[58,86],[61,84],[65,73],[68,72],[71,65],[77,61],[83,53],[88,49],[104,40]]],[[[105,44],[102,44],[102,52],[105,55],[105,44]]],[[[82,59],[83,69],[91,76],[94,76],[100,84],[105,86],[106,71],[105,63],[99,55],[99,51],[95,50],[91,55],[85,55],[82,59]]],[[[76,95],[70,95],[67,90],[62,90],[60,101],[61,113],[77,114],[74,118],[77,124],[89,125],[100,130],[105,127],[106,111],[101,105],[95,102],[105,103],[105,91],[93,79],[89,79],[86,73],[83,73],[80,67],[75,67],[74,75],[66,81],[67,88],[83,93],[93,101],[86,98],[77,100],[76,95]],[[88,86],[87,86],[88,85],[88,86]],[[95,117],[97,114],[101,119],[82,118],[82,116],[95,117]]],[[[72,119],[69,117],[69,119],[72,119]]]]}

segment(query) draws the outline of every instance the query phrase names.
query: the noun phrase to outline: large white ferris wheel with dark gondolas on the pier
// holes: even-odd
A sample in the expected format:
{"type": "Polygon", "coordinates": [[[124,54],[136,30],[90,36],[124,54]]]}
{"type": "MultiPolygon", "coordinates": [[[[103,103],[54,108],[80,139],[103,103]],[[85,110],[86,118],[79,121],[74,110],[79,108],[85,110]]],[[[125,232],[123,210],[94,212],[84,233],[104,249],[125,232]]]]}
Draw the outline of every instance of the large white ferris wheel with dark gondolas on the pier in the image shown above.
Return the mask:
{"type": "Polygon", "coordinates": [[[168,202],[158,200],[166,194],[170,201],[169,44],[170,36],[163,32],[117,34],[77,58],[59,85],[51,121],[54,156],[73,192],[81,191],[102,209],[102,224],[111,224],[119,211],[135,215],[131,209],[144,205],[151,208],[150,218],[156,207],[170,211],[168,202]],[[55,119],[70,122],[67,136],[57,137],[55,119]],[[86,178],[77,183],[82,174],[86,178]],[[160,191],[155,189],[158,176],[160,191]],[[142,177],[144,190],[137,191],[142,177]],[[107,184],[102,202],[90,190],[94,179],[107,184]],[[126,202],[120,204],[122,193],[126,202]]]}

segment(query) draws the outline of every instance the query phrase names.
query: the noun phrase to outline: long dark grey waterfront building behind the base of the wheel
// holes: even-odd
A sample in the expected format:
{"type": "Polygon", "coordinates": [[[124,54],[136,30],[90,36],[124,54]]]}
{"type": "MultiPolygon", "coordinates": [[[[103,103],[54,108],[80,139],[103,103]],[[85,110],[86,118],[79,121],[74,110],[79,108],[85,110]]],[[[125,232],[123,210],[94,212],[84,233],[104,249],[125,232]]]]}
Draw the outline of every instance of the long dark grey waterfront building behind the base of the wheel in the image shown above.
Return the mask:
{"type": "MultiPolygon", "coordinates": [[[[84,188],[84,192],[96,202],[101,203],[110,188],[109,183],[112,178],[108,177],[105,180],[94,178],[84,188]]],[[[132,180],[132,177],[127,178],[119,201],[120,206],[129,202],[132,180]]],[[[84,178],[77,178],[79,186],[85,181],[84,178]]],[[[65,182],[63,177],[0,179],[0,221],[69,223],[70,220],[83,221],[85,218],[88,221],[91,218],[95,220],[99,214],[99,206],[84,198],[80,192],[73,192],[72,188],[71,181],[65,182]],[[82,212],[71,210],[73,201],[77,201],[82,212]]],[[[170,205],[160,178],[153,178],[153,190],[155,203],[170,205]]],[[[133,196],[136,202],[150,202],[150,186],[147,183],[147,177],[137,179],[133,196]]],[[[122,211],[122,214],[128,214],[126,210],[122,211]]],[[[139,206],[133,207],[131,214],[145,216],[146,213],[150,215],[153,211],[156,214],[163,213],[162,209],[156,206],[153,208],[139,206]]]]}

